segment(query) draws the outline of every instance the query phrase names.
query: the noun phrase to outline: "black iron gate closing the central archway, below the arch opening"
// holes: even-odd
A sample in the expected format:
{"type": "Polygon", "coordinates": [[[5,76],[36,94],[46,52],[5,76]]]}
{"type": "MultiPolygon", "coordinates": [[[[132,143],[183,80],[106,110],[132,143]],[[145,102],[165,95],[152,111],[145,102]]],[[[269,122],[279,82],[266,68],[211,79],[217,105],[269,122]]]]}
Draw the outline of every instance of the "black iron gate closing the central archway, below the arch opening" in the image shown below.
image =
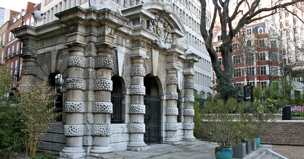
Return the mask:
{"type": "Polygon", "coordinates": [[[146,144],[161,142],[161,97],[145,95],[143,103],[146,105],[144,123],[146,133],[143,134],[143,141],[146,144]]]}

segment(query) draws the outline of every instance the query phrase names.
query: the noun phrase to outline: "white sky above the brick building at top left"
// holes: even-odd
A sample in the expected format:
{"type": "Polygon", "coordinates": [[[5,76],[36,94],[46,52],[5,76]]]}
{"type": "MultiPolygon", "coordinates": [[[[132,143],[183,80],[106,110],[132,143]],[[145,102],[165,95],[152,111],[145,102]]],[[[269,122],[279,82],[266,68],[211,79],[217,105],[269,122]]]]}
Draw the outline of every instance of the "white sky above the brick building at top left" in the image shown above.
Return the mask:
{"type": "Polygon", "coordinates": [[[21,12],[22,9],[26,9],[27,2],[39,4],[41,0],[1,0],[0,7],[21,12]]]}

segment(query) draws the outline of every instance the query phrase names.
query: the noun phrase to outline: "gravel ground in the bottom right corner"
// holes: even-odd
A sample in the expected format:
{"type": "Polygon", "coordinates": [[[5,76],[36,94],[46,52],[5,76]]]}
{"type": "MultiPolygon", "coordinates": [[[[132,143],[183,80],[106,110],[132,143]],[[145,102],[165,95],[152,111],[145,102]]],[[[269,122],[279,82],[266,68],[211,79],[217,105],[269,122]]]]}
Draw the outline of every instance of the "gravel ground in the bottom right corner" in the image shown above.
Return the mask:
{"type": "Polygon", "coordinates": [[[272,145],[272,151],[288,159],[304,159],[304,146],[272,145]]]}

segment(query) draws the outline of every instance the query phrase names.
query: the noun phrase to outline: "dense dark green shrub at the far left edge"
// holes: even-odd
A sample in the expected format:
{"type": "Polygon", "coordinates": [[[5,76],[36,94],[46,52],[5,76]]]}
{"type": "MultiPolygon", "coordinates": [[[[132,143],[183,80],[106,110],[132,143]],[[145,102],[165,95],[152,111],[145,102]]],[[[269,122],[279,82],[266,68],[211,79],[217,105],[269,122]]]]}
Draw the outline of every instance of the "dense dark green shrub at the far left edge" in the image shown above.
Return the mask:
{"type": "Polygon", "coordinates": [[[16,107],[17,96],[9,96],[15,84],[10,76],[10,66],[0,66],[0,158],[11,157],[13,151],[22,150],[24,124],[20,109],[16,107]]]}

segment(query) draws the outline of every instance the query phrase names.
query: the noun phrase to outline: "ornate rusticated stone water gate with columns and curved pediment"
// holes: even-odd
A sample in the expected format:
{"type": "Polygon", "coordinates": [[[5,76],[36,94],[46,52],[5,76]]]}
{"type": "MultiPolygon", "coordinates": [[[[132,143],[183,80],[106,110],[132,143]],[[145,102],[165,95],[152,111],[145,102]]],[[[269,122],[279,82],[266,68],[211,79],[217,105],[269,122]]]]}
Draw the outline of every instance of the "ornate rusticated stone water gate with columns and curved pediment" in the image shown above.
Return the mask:
{"type": "Polygon", "coordinates": [[[41,149],[66,158],[98,157],[147,150],[151,137],[167,144],[195,140],[193,66],[201,57],[186,53],[185,28],[169,5],[147,2],[122,15],[74,7],[55,16],[59,20],[12,30],[23,42],[28,82],[52,73],[64,79],[62,122],[52,123],[41,149]],[[146,110],[144,99],[154,98],[159,107],[150,102],[146,110]],[[114,122],[114,115],[121,118],[114,122]],[[145,134],[152,118],[159,119],[158,135],[145,134]]]}

